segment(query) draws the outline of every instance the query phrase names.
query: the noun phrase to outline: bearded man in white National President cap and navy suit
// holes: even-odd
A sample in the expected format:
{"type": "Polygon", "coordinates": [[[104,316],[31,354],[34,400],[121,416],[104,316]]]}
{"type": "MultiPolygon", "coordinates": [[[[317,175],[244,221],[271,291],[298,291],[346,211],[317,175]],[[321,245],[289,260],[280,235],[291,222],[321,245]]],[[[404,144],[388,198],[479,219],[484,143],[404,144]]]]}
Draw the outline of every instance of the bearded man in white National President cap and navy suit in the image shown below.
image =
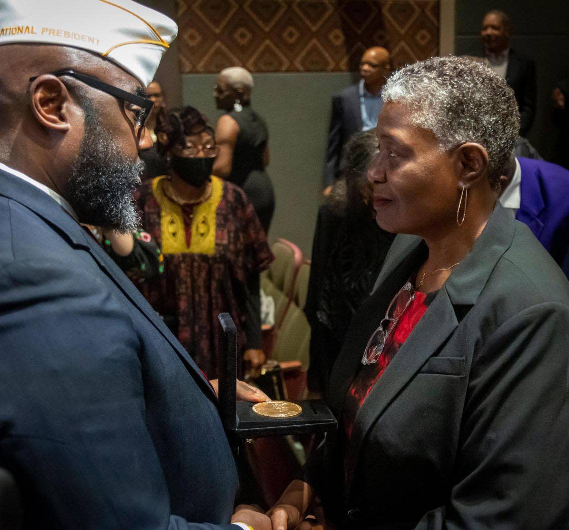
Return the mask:
{"type": "Polygon", "coordinates": [[[0,465],[27,528],[270,528],[232,518],[212,387],[80,225],[137,224],[176,31],[130,0],[0,0],[0,465]]]}

